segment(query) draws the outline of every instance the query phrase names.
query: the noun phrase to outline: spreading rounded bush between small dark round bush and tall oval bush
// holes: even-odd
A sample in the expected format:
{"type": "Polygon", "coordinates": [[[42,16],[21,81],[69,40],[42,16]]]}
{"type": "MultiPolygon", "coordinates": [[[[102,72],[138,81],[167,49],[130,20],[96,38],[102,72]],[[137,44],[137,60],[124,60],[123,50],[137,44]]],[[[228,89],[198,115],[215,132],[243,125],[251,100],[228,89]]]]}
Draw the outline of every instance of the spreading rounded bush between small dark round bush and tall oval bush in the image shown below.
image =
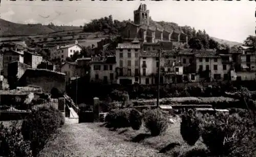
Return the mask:
{"type": "Polygon", "coordinates": [[[150,130],[152,136],[158,136],[168,127],[168,121],[160,109],[145,110],[143,120],[145,127],[150,130]]]}

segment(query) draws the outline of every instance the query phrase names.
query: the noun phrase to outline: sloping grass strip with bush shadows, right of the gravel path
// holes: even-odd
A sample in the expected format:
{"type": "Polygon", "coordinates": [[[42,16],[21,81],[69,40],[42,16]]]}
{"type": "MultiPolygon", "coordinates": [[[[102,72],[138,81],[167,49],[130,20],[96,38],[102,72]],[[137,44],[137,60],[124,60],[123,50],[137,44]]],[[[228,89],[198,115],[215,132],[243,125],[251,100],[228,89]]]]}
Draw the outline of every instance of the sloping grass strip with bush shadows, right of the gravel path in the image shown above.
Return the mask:
{"type": "Polygon", "coordinates": [[[205,148],[205,145],[200,139],[195,146],[188,146],[182,139],[180,134],[180,119],[176,118],[174,124],[169,124],[167,130],[160,134],[160,136],[152,137],[150,132],[142,126],[139,130],[133,130],[132,128],[119,128],[115,131],[102,127],[102,123],[99,125],[103,131],[110,132],[110,136],[118,136],[118,138],[124,141],[130,141],[139,143],[144,146],[152,147],[157,149],[160,153],[165,153],[169,156],[179,156],[187,152],[192,148],[205,148]]]}

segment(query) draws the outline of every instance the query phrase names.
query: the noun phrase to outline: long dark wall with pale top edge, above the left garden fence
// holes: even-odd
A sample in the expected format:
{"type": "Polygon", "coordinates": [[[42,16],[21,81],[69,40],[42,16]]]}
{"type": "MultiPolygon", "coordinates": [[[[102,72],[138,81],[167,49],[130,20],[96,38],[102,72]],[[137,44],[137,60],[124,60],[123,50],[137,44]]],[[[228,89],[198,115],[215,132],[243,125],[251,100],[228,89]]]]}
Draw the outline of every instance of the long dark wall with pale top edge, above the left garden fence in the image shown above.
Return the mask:
{"type": "Polygon", "coordinates": [[[46,69],[27,69],[19,79],[20,86],[40,86],[45,93],[50,93],[53,87],[61,93],[66,89],[66,75],[46,69]]]}

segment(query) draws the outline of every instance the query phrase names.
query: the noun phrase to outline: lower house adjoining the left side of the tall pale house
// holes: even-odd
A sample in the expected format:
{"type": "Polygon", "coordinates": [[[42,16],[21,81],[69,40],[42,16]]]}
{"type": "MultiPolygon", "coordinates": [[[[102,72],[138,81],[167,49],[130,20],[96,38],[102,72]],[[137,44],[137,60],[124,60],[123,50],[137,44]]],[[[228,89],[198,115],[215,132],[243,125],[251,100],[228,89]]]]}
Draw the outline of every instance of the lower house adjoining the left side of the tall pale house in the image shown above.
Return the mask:
{"type": "Polygon", "coordinates": [[[93,57],[90,61],[91,82],[116,83],[116,58],[93,57]]]}

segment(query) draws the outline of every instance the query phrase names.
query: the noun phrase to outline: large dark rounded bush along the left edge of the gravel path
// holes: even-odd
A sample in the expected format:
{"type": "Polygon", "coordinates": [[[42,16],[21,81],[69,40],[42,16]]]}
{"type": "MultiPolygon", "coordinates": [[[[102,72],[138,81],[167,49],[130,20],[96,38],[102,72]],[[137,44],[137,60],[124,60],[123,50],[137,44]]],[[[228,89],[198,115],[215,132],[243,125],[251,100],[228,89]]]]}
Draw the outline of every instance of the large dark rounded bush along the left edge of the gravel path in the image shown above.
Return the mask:
{"type": "Polygon", "coordinates": [[[33,156],[44,148],[52,133],[63,124],[63,116],[53,107],[42,107],[33,110],[23,121],[22,134],[25,140],[30,141],[33,156]],[[61,120],[62,119],[62,120],[61,120]]]}

